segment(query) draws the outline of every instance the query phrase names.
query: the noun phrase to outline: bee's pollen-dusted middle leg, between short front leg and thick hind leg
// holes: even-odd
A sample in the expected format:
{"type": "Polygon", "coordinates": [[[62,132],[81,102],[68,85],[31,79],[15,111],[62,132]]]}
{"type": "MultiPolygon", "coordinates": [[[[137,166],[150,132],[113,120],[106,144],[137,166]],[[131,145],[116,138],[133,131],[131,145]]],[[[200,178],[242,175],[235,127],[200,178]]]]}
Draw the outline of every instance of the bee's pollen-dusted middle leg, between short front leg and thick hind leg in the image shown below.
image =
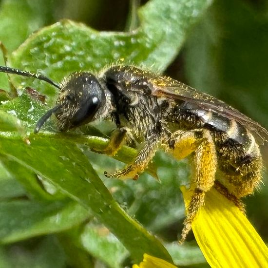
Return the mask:
{"type": "Polygon", "coordinates": [[[127,167],[123,170],[119,170],[113,174],[109,174],[104,172],[105,176],[108,178],[119,178],[119,179],[126,179],[126,178],[133,178],[138,179],[139,172],[143,172],[149,162],[152,160],[154,153],[158,148],[158,144],[160,143],[160,135],[153,134],[142,150],[138,153],[133,163],[127,165],[127,167]]]}

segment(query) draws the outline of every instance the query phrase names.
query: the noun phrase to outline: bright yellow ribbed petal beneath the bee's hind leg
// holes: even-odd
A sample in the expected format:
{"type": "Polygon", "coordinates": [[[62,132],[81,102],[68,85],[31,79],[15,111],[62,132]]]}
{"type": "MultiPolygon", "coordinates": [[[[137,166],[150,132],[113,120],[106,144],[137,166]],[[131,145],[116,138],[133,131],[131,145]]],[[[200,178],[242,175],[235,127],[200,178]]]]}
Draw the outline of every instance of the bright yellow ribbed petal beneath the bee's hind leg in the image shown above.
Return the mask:
{"type": "MultiPolygon", "coordinates": [[[[182,191],[187,206],[192,192],[182,191]]],[[[191,227],[212,268],[268,268],[267,246],[247,217],[216,190],[206,194],[191,227]]]]}

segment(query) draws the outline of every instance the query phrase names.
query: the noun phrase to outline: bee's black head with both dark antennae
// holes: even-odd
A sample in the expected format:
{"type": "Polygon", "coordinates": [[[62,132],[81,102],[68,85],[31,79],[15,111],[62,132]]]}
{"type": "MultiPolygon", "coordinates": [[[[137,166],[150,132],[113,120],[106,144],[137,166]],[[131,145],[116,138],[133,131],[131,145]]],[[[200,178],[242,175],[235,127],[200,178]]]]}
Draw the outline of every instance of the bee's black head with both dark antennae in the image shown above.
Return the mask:
{"type": "Polygon", "coordinates": [[[60,131],[66,131],[96,119],[109,117],[114,113],[114,99],[105,85],[88,72],[73,73],[65,77],[60,85],[38,73],[21,71],[0,66],[0,72],[43,80],[60,90],[56,106],[47,111],[38,121],[35,133],[55,115],[60,131]]]}

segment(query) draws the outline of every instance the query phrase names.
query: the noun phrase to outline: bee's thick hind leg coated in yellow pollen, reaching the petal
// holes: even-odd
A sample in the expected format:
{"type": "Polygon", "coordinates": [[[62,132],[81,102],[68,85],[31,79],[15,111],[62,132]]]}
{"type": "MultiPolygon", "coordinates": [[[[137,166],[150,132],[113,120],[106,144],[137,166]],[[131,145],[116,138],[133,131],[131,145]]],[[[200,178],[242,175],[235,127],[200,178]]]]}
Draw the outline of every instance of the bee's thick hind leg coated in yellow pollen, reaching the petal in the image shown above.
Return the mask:
{"type": "Polygon", "coordinates": [[[205,194],[211,189],[217,169],[214,142],[208,130],[178,131],[172,134],[170,146],[177,158],[193,152],[194,183],[196,188],[187,207],[187,215],[179,243],[183,243],[191,230],[191,223],[198,210],[204,205],[205,194]],[[173,138],[173,140],[172,140],[173,138]]]}

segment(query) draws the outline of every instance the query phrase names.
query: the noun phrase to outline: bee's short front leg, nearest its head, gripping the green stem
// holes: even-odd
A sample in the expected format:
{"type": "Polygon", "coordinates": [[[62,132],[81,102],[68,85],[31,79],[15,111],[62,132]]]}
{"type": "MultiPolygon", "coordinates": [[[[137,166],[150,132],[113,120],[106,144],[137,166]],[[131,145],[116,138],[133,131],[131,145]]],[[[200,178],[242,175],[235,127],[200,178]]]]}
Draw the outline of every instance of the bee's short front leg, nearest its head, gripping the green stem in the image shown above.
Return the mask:
{"type": "Polygon", "coordinates": [[[108,143],[107,147],[101,151],[96,149],[93,149],[93,151],[113,156],[123,146],[126,137],[127,137],[127,130],[125,128],[115,129],[115,131],[111,135],[110,142],[108,143]]]}

